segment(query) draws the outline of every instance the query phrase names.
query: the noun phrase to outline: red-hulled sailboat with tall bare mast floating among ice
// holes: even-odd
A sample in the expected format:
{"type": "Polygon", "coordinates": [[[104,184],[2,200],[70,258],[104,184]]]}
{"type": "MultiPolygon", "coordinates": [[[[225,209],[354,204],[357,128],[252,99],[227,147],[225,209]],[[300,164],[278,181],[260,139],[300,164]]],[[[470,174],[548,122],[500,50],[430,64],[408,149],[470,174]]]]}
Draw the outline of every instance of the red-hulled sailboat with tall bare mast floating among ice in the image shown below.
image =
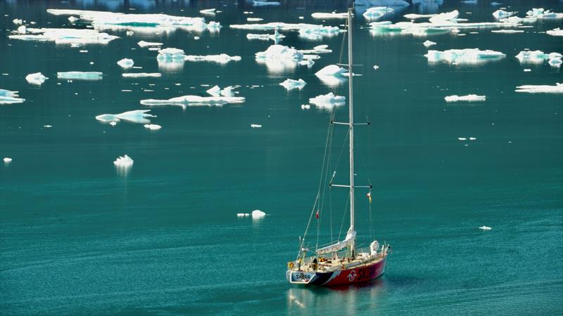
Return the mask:
{"type": "MultiPolygon", "coordinates": [[[[348,79],[349,122],[338,123],[331,121],[331,124],[348,125],[349,128],[350,183],[349,185],[335,185],[332,183],[329,185],[331,185],[331,187],[348,187],[350,190],[350,228],[348,228],[346,237],[343,240],[322,248],[317,247],[315,251],[311,251],[305,246],[305,237],[308,229],[305,230],[303,239],[300,237],[301,240],[296,260],[287,263],[286,278],[291,284],[333,287],[369,282],[383,275],[387,256],[391,252],[390,245],[386,243],[380,245],[377,240],[369,244],[369,249],[356,249],[354,189],[369,188],[371,190],[372,186],[354,185],[354,126],[364,125],[366,123],[354,124],[352,60],[352,9],[348,8],[348,72],[350,74],[348,79]]],[[[335,173],[333,173],[332,178],[334,178],[334,174],[335,173]]],[[[371,191],[368,193],[368,197],[371,202],[371,191]]],[[[319,194],[317,194],[317,200],[318,199],[319,194]]],[[[317,202],[315,202],[315,204],[316,203],[317,202]]],[[[315,211],[315,207],[313,211],[315,211]]],[[[317,218],[318,214],[317,211],[317,218]]],[[[312,213],[310,218],[312,218],[312,213]]]]}

